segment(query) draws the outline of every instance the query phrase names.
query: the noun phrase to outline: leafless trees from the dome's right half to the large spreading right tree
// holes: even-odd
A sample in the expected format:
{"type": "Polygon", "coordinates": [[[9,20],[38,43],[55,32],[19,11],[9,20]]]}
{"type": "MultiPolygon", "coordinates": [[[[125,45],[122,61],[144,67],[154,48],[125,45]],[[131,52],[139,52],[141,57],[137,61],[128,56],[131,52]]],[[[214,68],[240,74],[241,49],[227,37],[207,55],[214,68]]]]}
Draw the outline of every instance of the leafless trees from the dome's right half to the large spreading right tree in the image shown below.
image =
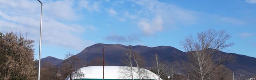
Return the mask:
{"type": "Polygon", "coordinates": [[[163,61],[155,54],[152,55],[150,67],[145,66],[143,56],[129,49],[124,53],[122,60],[122,63],[129,67],[123,69],[123,73],[126,73],[126,77],[134,79],[135,72],[139,79],[145,79],[147,76],[143,76],[144,71],[140,71],[140,68],[146,68],[160,76],[158,80],[231,80],[232,71],[223,64],[232,62],[234,57],[220,53],[220,50],[234,45],[227,43],[230,37],[225,31],[211,29],[197,33],[196,37],[188,36],[181,42],[186,55],[176,53],[185,60],[163,61]]]}

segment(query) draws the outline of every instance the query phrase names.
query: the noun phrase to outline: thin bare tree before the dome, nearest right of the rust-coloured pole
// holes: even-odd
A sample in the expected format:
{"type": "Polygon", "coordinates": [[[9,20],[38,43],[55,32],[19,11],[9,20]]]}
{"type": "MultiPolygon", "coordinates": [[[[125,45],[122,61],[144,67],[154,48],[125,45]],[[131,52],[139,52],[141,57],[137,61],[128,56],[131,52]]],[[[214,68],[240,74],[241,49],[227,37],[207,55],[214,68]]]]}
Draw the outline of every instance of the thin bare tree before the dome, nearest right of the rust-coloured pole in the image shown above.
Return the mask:
{"type": "Polygon", "coordinates": [[[124,58],[122,63],[128,67],[122,67],[120,73],[123,74],[123,78],[130,78],[134,80],[134,72],[135,69],[133,68],[133,52],[132,50],[128,50],[124,53],[124,58]]]}

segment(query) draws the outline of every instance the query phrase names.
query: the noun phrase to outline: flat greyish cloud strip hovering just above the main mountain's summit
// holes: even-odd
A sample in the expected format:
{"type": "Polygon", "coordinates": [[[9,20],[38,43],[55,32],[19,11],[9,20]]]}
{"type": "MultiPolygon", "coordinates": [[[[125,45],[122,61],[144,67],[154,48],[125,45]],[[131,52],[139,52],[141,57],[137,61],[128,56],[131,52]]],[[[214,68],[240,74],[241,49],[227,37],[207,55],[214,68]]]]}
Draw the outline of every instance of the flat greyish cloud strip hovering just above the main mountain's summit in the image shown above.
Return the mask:
{"type": "Polygon", "coordinates": [[[116,34],[110,34],[106,37],[104,37],[105,40],[109,40],[112,42],[134,42],[134,41],[140,41],[140,38],[138,35],[116,35],[116,34]]]}

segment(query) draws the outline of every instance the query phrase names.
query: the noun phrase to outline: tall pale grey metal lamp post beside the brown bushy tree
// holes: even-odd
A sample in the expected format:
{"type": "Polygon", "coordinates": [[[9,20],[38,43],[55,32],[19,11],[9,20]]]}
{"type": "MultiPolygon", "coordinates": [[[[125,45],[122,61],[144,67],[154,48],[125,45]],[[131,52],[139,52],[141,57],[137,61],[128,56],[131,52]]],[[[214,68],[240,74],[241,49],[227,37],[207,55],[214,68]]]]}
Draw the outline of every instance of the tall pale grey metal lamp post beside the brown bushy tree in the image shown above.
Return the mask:
{"type": "MultiPolygon", "coordinates": [[[[40,0],[38,0],[40,2],[40,0]]],[[[40,64],[41,64],[41,38],[42,38],[42,13],[43,13],[43,4],[41,3],[41,22],[40,22],[40,42],[39,42],[39,64],[38,64],[38,80],[40,80],[40,64]]]]}

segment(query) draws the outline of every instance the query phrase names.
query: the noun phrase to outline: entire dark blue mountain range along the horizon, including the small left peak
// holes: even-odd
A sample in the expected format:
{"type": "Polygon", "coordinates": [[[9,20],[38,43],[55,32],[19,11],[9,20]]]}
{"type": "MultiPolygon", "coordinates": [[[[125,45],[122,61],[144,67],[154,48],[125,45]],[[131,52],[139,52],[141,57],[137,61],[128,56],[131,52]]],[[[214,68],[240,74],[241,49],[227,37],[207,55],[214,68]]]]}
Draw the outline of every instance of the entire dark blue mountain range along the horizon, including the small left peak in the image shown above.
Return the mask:
{"type": "MultiPolygon", "coordinates": [[[[122,44],[94,44],[82,50],[80,53],[76,54],[78,58],[81,59],[82,62],[90,62],[90,60],[103,57],[103,46],[105,48],[105,61],[108,65],[112,66],[124,66],[122,64],[122,58],[124,57],[124,52],[131,49],[134,52],[142,55],[146,62],[147,66],[151,65],[152,56],[154,54],[158,54],[162,60],[165,61],[175,61],[175,60],[184,60],[182,55],[186,55],[185,52],[178,50],[177,48],[171,46],[157,46],[157,47],[148,47],[148,46],[125,46],[122,44]]],[[[224,66],[234,71],[235,77],[244,77],[251,78],[256,76],[256,58],[235,54],[235,53],[226,53],[221,52],[222,54],[231,54],[235,57],[235,61],[225,62],[224,66]]],[[[41,59],[42,62],[50,61],[55,65],[61,64],[63,60],[57,59],[54,57],[46,57],[41,59]]]]}

